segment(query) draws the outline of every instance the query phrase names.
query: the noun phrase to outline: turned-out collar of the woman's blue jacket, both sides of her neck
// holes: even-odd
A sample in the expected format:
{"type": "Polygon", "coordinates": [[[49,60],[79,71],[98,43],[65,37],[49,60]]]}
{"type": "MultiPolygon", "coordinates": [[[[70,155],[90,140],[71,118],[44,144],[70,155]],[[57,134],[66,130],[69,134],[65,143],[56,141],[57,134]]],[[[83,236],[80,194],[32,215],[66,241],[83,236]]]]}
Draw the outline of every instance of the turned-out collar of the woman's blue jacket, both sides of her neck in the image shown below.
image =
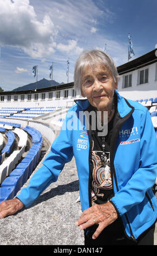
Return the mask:
{"type": "MultiPolygon", "coordinates": [[[[117,110],[120,114],[120,117],[123,118],[134,108],[129,104],[129,102],[122,97],[117,90],[115,90],[115,94],[117,96],[117,110]]],[[[87,99],[83,100],[75,100],[75,103],[84,111],[89,107],[89,101],[87,99]]]]}

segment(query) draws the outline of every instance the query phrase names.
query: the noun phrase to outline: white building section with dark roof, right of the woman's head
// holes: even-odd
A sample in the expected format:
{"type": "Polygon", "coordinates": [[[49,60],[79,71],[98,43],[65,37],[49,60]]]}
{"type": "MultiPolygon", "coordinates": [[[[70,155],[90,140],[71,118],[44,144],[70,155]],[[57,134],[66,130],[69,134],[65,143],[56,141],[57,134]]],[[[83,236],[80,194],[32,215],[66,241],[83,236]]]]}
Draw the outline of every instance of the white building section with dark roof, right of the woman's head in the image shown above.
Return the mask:
{"type": "Polygon", "coordinates": [[[157,54],[153,50],[117,67],[119,93],[131,100],[157,97],[157,54]]]}

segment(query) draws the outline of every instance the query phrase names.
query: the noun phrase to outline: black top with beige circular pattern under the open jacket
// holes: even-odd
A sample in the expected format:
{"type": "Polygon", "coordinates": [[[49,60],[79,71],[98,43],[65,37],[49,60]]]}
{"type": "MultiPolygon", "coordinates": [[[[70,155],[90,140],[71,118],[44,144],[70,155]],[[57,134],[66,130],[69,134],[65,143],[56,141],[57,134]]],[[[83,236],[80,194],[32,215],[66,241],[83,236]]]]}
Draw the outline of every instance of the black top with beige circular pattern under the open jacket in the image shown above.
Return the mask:
{"type": "MultiPolygon", "coordinates": [[[[90,106],[88,111],[93,111],[90,106]]],[[[112,136],[113,123],[116,112],[112,120],[108,123],[108,133],[104,137],[104,161],[101,156],[102,136],[98,136],[99,130],[91,131],[91,156],[90,156],[90,184],[91,184],[91,202],[103,204],[113,196],[112,176],[110,172],[110,138],[112,136]]]]}

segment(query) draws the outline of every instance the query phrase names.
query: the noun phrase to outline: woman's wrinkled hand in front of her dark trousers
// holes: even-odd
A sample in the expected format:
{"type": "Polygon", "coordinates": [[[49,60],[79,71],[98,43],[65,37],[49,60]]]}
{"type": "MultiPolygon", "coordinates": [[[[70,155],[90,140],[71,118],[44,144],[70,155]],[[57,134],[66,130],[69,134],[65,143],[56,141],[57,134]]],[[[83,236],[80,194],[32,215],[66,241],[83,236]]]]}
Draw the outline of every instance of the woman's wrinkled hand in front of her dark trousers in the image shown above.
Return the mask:
{"type": "Polygon", "coordinates": [[[92,238],[96,239],[102,230],[109,224],[113,223],[117,219],[117,212],[112,203],[107,202],[105,204],[94,204],[90,208],[83,211],[80,219],[76,221],[76,225],[80,229],[91,227],[94,224],[98,224],[92,238]]]}

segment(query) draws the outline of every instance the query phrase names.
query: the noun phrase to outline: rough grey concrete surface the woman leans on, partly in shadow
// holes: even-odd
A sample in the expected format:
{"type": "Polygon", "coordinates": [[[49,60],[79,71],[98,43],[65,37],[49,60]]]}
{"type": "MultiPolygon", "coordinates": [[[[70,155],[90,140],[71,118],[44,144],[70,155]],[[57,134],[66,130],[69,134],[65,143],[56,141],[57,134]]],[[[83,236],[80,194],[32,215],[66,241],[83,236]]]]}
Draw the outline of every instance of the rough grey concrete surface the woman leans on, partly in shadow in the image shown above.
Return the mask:
{"type": "Polygon", "coordinates": [[[75,203],[78,189],[73,159],[34,204],[0,220],[0,245],[84,245],[83,231],[75,226],[82,213],[80,203],[75,203]]]}

